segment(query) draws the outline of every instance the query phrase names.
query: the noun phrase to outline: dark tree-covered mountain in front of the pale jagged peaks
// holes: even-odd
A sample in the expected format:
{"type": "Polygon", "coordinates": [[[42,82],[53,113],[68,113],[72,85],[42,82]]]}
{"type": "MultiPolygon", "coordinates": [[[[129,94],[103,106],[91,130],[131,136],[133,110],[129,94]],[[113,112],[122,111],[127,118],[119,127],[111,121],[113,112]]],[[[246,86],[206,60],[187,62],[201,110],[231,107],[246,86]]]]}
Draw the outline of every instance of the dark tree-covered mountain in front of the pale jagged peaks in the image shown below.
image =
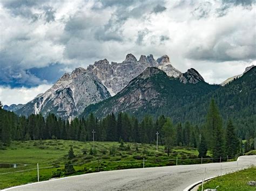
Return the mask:
{"type": "Polygon", "coordinates": [[[156,67],[146,68],[131,80],[118,94],[85,108],[80,117],[93,112],[97,117],[118,112],[130,112],[136,116],[158,115],[169,110],[178,110],[196,97],[203,96],[218,87],[204,82],[194,69],[179,77],[170,77],[156,67]]]}

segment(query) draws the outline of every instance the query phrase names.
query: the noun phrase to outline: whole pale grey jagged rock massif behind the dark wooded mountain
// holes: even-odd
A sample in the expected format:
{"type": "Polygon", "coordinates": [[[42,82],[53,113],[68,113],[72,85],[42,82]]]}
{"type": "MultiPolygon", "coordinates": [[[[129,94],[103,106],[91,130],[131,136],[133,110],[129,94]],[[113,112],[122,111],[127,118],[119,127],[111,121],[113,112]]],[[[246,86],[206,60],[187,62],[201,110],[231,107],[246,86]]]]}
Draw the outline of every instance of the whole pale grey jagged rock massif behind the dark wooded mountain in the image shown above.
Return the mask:
{"type": "MultiPolygon", "coordinates": [[[[141,55],[139,60],[132,54],[127,54],[123,62],[96,61],[87,69],[76,68],[71,74],[65,73],[53,86],[32,101],[9,108],[18,115],[29,116],[41,113],[43,116],[54,113],[62,118],[78,117],[84,109],[94,103],[106,100],[121,91],[132,79],[148,67],[157,67],[170,77],[176,77],[183,83],[197,83],[196,80],[186,80],[189,72],[182,74],[174,68],[169,56],[164,55],[155,60],[153,55],[141,55]],[[186,77],[185,77],[186,76],[186,77]]],[[[199,80],[204,80],[197,74],[199,80]]]]}

